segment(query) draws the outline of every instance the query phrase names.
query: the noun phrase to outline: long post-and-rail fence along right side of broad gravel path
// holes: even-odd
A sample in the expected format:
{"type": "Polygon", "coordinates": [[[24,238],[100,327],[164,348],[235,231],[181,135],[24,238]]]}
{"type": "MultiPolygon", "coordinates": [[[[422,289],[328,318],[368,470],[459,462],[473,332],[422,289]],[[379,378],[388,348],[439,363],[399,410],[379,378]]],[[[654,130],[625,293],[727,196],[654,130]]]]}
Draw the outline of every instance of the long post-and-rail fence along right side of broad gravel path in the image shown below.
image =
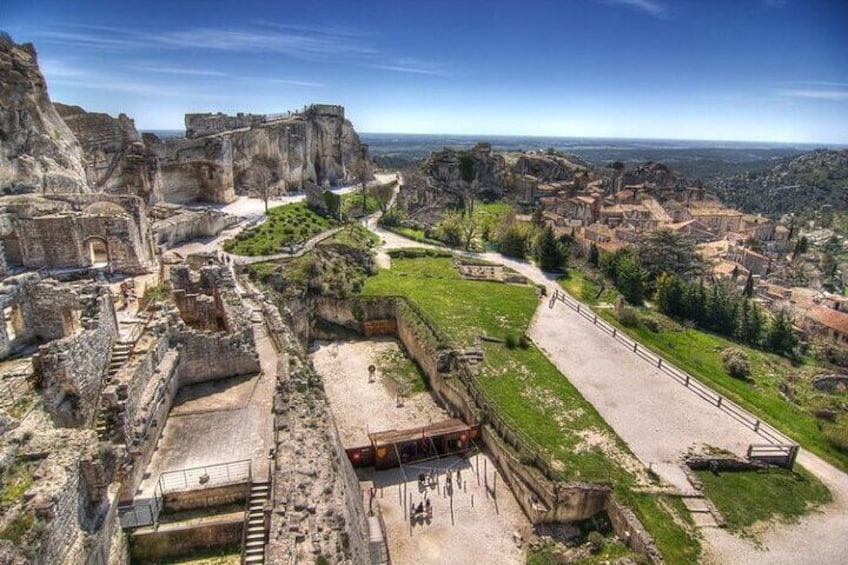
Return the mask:
{"type": "Polygon", "coordinates": [[[679,369],[678,367],[668,362],[666,359],[660,357],[644,345],[641,345],[637,341],[631,339],[618,328],[599,318],[598,315],[595,314],[585,304],[578,302],[565,292],[560,292],[559,289],[554,290],[554,293],[551,295],[551,299],[548,306],[550,308],[553,308],[557,301],[562,302],[563,304],[577,312],[583,319],[591,322],[597,328],[612,336],[613,339],[625,345],[634,354],[638,355],[643,360],[652,364],[654,367],[661,370],[666,375],[670,376],[672,379],[682,384],[693,393],[700,396],[702,399],[706,400],[710,404],[713,404],[726,414],[729,414],[732,418],[743,424],[745,427],[753,430],[754,433],[758,434],[770,444],[785,445],[788,447],[797,445],[794,441],[786,437],[773,426],[764,422],[760,418],[757,418],[756,416],[754,416],[732,400],[729,400],[728,398],[717,393],[716,391],[703,384],[701,381],[697,380],[689,373],[679,369]]]}

